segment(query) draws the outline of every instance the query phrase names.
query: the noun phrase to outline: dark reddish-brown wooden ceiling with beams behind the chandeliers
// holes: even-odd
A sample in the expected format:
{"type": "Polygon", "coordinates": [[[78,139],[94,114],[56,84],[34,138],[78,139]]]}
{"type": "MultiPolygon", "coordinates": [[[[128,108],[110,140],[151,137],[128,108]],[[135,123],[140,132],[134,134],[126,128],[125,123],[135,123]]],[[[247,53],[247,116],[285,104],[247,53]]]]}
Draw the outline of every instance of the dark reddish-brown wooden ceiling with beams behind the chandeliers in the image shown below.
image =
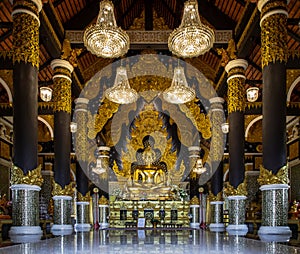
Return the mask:
{"type": "MultiPolygon", "coordinates": [[[[84,30],[95,22],[99,11],[99,0],[43,0],[40,13],[40,68],[39,84],[52,83],[50,63],[61,55],[61,47],[68,30],[84,30]]],[[[201,0],[199,13],[203,23],[215,30],[231,30],[236,43],[237,55],[248,61],[246,70],[246,87],[262,88],[262,69],[260,53],[260,13],[255,0],[201,0]]],[[[117,24],[125,30],[173,30],[180,24],[184,0],[113,0],[117,24]]],[[[0,3],[0,52],[9,51],[12,47],[12,0],[0,3]]],[[[300,1],[290,0],[288,3],[288,48],[290,51],[288,69],[300,68],[300,1]]],[[[83,48],[78,57],[78,67],[73,75],[73,98],[76,98],[85,82],[104,66],[110,59],[99,59],[89,53],[82,43],[74,43],[72,47],[83,48]]],[[[146,46],[135,47],[128,55],[139,54],[146,46]]],[[[226,43],[216,43],[206,54],[186,61],[199,68],[211,79],[220,96],[226,97],[226,75],[221,66],[221,56],[217,48],[227,48],[226,43]]],[[[171,53],[166,49],[156,49],[158,53],[171,53]]],[[[0,54],[1,55],[1,54],[0,54]]],[[[9,58],[0,58],[0,69],[11,70],[9,58]]],[[[3,89],[2,89],[3,90],[3,89]]],[[[2,91],[0,89],[0,92],[2,91]]],[[[260,90],[261,91],[261,90],[260,90]]],[[[7,98],[0,95],[0,99],[7,98]]],[[[261,98],[260,98],[261,100],[261,98]]],[[[296,85],[291,101],[300,101],[300,84],[296,85]]],[[[258,113],[255,109],[254,113],[258,113]]],[[[253,113],[252,112],[252,113],[253,113]]],[[[251,112],[249,112],[251,114],[251,112]]]]}

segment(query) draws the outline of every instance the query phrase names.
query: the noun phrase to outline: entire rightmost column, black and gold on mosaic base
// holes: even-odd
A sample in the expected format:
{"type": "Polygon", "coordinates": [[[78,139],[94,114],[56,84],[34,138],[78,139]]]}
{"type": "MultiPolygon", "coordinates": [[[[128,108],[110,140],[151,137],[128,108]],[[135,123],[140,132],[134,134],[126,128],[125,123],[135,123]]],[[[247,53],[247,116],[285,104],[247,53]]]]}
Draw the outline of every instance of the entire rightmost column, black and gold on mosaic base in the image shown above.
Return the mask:
{"type": "Polygon", "coordinates": [[[286,158],[287,3],[260,0],[263,74],[262,226],[259,235],[286,235],[288,221],[288,169],[286,158]]]}

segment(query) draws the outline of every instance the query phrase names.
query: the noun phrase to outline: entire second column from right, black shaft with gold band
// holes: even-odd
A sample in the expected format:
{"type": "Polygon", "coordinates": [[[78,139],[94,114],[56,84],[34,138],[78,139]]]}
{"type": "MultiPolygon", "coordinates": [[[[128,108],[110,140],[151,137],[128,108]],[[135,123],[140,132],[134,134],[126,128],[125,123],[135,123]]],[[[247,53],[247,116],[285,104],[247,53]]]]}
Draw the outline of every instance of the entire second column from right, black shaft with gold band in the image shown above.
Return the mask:
{"type": "Polygon", "coordinates": [[[248,63],[244,59],[228,62],[228,121],[229,121],[229,186],[227,187],[229,225],[226,230],[239,235],[246,234],[245,224],[246,186],[244,163],[244,110],[245,110],[245,70],[248,63]],[[230,191],[229,191],[230,190],[230,191]]]}

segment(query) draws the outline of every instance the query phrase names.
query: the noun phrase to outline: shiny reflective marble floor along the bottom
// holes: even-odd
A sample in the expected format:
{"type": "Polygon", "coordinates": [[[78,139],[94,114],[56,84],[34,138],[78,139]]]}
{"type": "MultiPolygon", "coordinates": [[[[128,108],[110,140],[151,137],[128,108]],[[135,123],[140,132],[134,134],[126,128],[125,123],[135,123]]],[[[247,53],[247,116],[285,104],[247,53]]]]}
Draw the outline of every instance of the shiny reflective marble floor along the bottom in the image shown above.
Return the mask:
{"type": "Polygon", "coordinates": [[[300,253],[287,243],[203,230],[99,230],[0,248],[0,254],[71,253],[300,253]]]}

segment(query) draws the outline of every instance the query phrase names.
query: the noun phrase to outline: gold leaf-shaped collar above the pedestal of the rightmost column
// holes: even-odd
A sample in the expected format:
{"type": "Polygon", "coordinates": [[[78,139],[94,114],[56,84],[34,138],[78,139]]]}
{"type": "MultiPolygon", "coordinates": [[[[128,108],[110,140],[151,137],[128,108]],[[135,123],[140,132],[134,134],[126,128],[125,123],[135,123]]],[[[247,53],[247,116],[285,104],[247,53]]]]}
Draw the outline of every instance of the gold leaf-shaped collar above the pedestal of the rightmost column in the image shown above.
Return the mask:
{"type": "Polygon", "coordinates": [[[288,184],[288,165],[281,167],[276,174],[273,174],[272,170],[265,169],[263,165],[260,165],[260,173],[257,179],[260,185],[266,184],[288,184]]]}

